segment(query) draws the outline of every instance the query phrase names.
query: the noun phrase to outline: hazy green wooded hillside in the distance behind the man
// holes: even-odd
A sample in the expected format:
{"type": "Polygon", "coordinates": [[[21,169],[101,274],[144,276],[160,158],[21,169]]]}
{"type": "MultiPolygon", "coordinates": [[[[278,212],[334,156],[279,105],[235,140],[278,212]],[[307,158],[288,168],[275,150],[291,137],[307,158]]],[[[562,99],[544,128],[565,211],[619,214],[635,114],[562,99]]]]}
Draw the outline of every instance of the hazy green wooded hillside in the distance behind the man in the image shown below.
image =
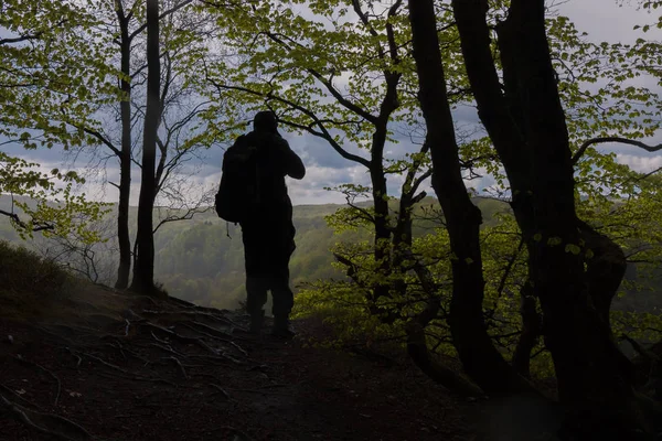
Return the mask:
{"type": "MultiPolygon", "coordinates": [[[[8,204],[7,200],[7,196],[0,197],[0,207],[8,204]]],[[[503,202],[478,197],[474,201],[483,212],[484,224],[494,222],[494,213],[508,209],[508,204],[503,202]]],[[[362,205],[367,206],[370,202],[362,205]]],[[[344,205],[324,204],[295,207],[297,250],[290,263],[295,287],[307,281],[344,277],[331,266],[333,256],[330,248],[339,240],[370,239],[367,232],[334,235],[327,226],[324,216],[342,206],[344,205]]],[[[394,202],[392,207],[396,206],[394,202]]],[[[426,214],[438,215],[440,211],[437,200],[425,198],[418,204],[418,212],[423,211],[426,211],[426,214]]],[[[132,207],[131,228],[135,227],[136,214],[137,208],[132,207]]],[[[417,222],[414,233],[427,234],[435,224],[433,220],[417,222]]],[[[109,225],[113,226],[111,222],[109,225]]],[[[110,232],[114,232],[114,227],[110,232]]],[[[1,216],[0,238],[20,240],[8,219],[1,216]]],[[[195,215],[190,220],[164,224],[154,236],[154,247],[156,278],[172,295],[218,308],[234,308],[244,298],[244,249],[241,228],[220,219],[213,211],[195,215]]],[[[99,268],[106,268],[106,273],[111,279],[117,257],[107,250],[99,260],[99,268]]],[[[113,280],[106,282],[111,283],[113,280]]]]}

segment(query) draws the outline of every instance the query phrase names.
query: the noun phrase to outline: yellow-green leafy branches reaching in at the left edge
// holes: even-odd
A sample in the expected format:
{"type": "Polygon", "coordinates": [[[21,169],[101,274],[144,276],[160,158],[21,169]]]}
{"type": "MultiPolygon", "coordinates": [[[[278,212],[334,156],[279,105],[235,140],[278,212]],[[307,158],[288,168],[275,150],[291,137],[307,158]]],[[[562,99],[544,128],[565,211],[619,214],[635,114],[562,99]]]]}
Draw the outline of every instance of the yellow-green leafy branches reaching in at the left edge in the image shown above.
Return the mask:
{"type": "MultiPolygon", "coordinates": [[[[81,63],[103,51],[95,44],[85,50],[81,42],[90,36],[93,20],[71,2],[17,2],[0,6],[0,137],[2,143],[26,149],[65,147],[84,142],[81,132],[64,133],[51,119],[70,114],[87,118],[84,101],[90,90],[105,94],[106,69],[81,63]],[[70,45],[75,47],[68,50],[70,45]],[[32,129],[32,130],[31,130],[32,129]]],[[[52,170],[44,173],[21,158],[0,152],[0,192],[12,197],[12,207],[2,212],[25,237],[42,230],[66,235],[76,230],[85,240],[95,240],[86,230],[88,222],[103,214],[103,205],[76,195],[74,186],[84,182],[74,172],[52,170]],[[26,203],[24,196],[34,204],[26,203]]]]}

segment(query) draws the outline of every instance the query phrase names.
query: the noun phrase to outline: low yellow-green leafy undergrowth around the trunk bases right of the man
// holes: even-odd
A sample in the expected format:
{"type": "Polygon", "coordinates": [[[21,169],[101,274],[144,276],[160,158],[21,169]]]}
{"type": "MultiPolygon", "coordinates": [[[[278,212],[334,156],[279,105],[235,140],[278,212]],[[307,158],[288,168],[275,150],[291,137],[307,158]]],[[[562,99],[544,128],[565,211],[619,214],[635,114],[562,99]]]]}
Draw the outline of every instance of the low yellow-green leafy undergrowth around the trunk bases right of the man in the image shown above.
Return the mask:
{"type": "MultiPolygon", "coordinates": [[[[488,333],[494,346],[506,359],[513,357],[522,329],[520,313],[521,290],[526,281],[526,249],[521,241],[520,230],[510,214],[494,216],[498,222],[481,230],[482,265],[485,278],[483,312],[488,333]]],[[[444,320],[450,302],[450,260],[448,234],[437,229],[416,237],[413,252],[427,262],[435,282],[439,287],[442,312],[426,329],[428,347],[439,357],[456,357],[448,324],[444,320]]],[[[373,245],[367,241],[339,243],[333,251],[354,265],[354,280],[320,280],[302,287],[295,302],[296,318],[316,316],[329,324],[333,332],[312,342],[318,346],[341,347],[352,344],[370,346],[375,342],[395,341],[404,345],[405,322],[424,306],[426,294],[420,292],[412,270],[398,272],[382,281],[404,283],[404,297],[392,290],[387,299],[377,300],[381,311],[397,316],[384,323],[371,311],[370,288],[378,276],[377,265],[372,257],[373,245]],[[399,278],[399,280],[397,280],[399,278]],[[357,281],[357,282],[356,282],[357,281]]],[[[346,267],[334,263],[340,269],[346,267]]],[[[373,304],[374,306],[374,304],[373,304]]],[[[540,304],[536,308],[541,313],[540,304]]],[[[659,338],[662,315],[644,311],[612,311],[617,336],[624,332],[642,342],[659,338]]],[[[551,354],[542,338],[533,348],[531,373],[534,377],[553,376],[551,354]]]]}

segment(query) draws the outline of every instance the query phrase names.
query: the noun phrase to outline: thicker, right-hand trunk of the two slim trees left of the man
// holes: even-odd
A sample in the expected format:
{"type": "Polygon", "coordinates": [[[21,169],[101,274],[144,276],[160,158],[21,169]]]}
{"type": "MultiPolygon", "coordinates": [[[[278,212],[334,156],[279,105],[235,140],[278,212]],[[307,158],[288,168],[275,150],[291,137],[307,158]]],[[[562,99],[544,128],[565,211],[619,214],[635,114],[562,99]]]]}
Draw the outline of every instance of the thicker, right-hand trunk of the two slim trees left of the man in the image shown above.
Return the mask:
{"type": "Polygon", "coordinates": [[[147,110],[142,146],[142,174],[138,205],[136,266],[131,288],[139,292],[156,293],[154,235],[152,213],[156,195],[157,131],[161,119],[161,64],[159,58],[159,1],[147,0],[147,110]]]}

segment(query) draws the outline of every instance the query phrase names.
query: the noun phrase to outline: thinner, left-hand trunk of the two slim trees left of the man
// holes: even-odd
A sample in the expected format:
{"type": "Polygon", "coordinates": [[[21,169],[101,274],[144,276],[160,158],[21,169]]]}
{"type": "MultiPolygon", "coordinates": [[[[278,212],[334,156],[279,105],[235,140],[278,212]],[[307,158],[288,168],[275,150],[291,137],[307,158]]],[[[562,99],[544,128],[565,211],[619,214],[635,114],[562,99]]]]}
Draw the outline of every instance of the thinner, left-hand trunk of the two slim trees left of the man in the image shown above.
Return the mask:
{"type": "Polygon", "coordinates": [[[115,1],[120,29],[121,73],[120,88],[122,100],[119,103],[121,119],[121,151],[119,157],[119,204],[117,208],[117,240],[119,243],[119,267],[115,288],[129,286],[131,270],[131,239],[129,237],[129,200],[131,194],[131,40],[129,21],[125,17],[122,3],[115,1]]]}

